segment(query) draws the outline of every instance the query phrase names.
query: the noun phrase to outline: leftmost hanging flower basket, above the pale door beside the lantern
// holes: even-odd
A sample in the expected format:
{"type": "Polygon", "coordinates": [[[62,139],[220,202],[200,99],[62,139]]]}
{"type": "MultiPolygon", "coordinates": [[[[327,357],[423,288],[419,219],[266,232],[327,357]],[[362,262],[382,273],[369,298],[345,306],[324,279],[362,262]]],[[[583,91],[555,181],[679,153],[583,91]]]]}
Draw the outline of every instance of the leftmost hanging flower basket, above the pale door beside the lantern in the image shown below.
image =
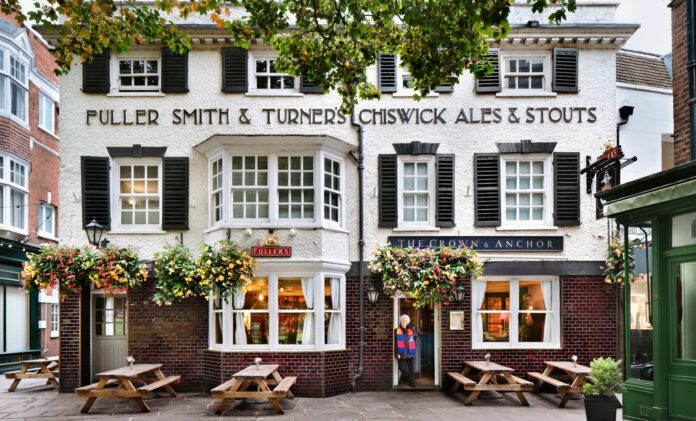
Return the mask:
{"type": "Polygon", "coordinates": [[[147,267],[130,248],[110,245],[83,255],[87,279],[101,291],[123,292],[147,280],[147,267]]]}

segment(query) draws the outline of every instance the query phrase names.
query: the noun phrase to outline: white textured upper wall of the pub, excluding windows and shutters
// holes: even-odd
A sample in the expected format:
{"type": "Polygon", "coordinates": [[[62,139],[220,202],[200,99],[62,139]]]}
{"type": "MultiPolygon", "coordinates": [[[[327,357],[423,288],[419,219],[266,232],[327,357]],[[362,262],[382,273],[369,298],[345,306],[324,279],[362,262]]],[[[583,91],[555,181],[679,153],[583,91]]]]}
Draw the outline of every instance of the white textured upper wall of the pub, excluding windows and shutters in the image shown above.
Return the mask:
{"type": "MultiPolygon", "coordinates": [[[[554,227],[552,222],[536,226],[478,228],[474,226],[474,175],[473,154],[497,152],[496,142],[519,142],[531,139],[534,142],[557,142],[556,152],[579,152],[581,164],[584,156],[596,156],[601,152],[604,140],[615,138],[616,81],[615,54],[617,49],[630,37],[635,27],[614,25],[613,12],[616,2],[584,2],[577,14],[571,14],[566,24],[560,27],[527,28],[513,27],[510,38],[499,45],[503,57],[506,55],[542,57],[550,69],[554,47],[577,47],[579,52],[579,93],[556,94],[550,89],[541,95],[515,93],[480,94],[474,90],[474,78],[464,74],[454,92],[433,94],[416,102],[407,90],[400,89],[396,94],[385,94],[379,101],[359,104],[356,114],[365,117],[363,110],[381,108],[417,108],[420,110],[437,108],[446,121],[438,124],[364,124],[365,141],[365,230],[366,257],[376,245],[384,244],[389,235],[561,235],[564,237],[563,252],[549,253],[482,253],[493,260],[559,260],[559,261],[597,261],[605,255],[606,222],[595,220],[594,197],[585,193],[585,179],[581,177],[581,225],[577,227],[554,227]],[[583,25],[576,25],[582,23],[583,25]],[[588,25],[585,25],[588,24],[588,25]],[[522,117],[519,123],[510,123],[509,107],[517,107],[522,117]],[[582,123],[544,123],[537,115],[535,121],[526,122],[524,110],[534,108],[594,108],[596,121],[587,122],[585,114],[582,123]],[[500,108],[502,119],[495,124],[455,123],[460,110],[474,108],[500,108]],[[442,111],[444,110],[444,111],[442,111]],[[421,228],[418,230],[380,229],[378,221],[378,161],[379,154],[393,154],[393,143],[412,141],[439,143],[438,153],[456,155],[456,194],[454,228],[421,228]]],[[[545,18],[530,15],[526,5],[513,6],[513,23],[525,24],[534,19],[544,23],[545,18]]],[[[207,21],[206,21],[207,23],[207,21]]],[[[190,158],[190,201],[189,225],[184,232],[184,242],[198,250],[205,242],[224,239],[227,229],[231,238],[245,246],[263,242],[268,229],[273,228],[279,242],[293,247],[290,262],[316,265],[318,271],[345,273],[351,262],[358,260],[358,197],[357,165],[350,152],[357,150],[356,130],[351,127],[350,116],[342,124],[279,124],[277,118],[267,121],[263,109],[278,108],[328,109],[337,110],[340,98],[334,94],[310,95],[298,92],[268,94],[250,89],[246,94],[226,94],[221,92],[221,45],[213,38],[223,37],[221,32],[211,28],[210,35],[203,41],[194,39],[189,55],[189,92],[186,94],[84,94],[81,92],[81,65],[75,64],[73,71],[61,82],[61,143],[65,151],[61,162],[61,240],[66,244],[83,244],[86,241],[82,229],[81,197],[81,156],[108,156],[107,147],[166,146],[166,156],[187,156],[190,158]],[[176,125],[173,124],[175,109],[229,109],[229,124],[176,125]],[[239,110],[248,109],[250,124],[242,124],[239,110]],[[157,110],[157,125],[103,125],[98,117],[87,124],[87,110],[115,110],[122,119],[125,111],[129,119],[135,118],[136,110],[157,110]],[[311,137],[308,137],[311,136],[311,137]],[[342,222],[338,225],[325,223],[265,224],[233,221],[221,222],[211,226],[210,221],[210,183],[209,160],[230,151],[266,151],[295,153],[330,153],[343,161],[344,171],[341,182],[342,222]],[[247,229],[250,228],[251,231],[247,229]]],[[[147,48],[143,49],[147,50],[147,48]]],[[[137,56],[141,50],[134,51],[137,56]]],[[[159,52],[152,48],[151,53],[159,52]]],[[[149,54],[149,53],[146,53],[149,54]]],[[[258,46],[250,49],[254,55],[268,55],[272,52],[258,46]]],[[[502,66],[502,62],[501,62],[502,66]]],[[[374,71],[370,76],[376,80],[374,71]]],[[[250,75],[250,80],[253,75],[250,75]]],[[[550,84],[550,80],[546,79],[550,84]]],[[[296,83],[297,86],[297,83],[296,83]]],[[[628,135],[626,135],[628,137],[628,135]]],[[[235,152],[236,153],[236,152],[235,152]]],[[[112,165],[113,167],[113,165],[112,165]]],[[[226,177],[229,173],[226,173],[226,177]]],[[[229,181],[229,180],[228,180],[229,181]]],[[[229,192],[229,184],[226,184],[229,192]]],[[[317,194],[318,196],[318,194],[317,194]]],[[[229,197],[224,203],[229,206],[229,197]]],[[[550,197],[547,196],[547,200],[550,197]]],[[[549,204],[552,202],[548,202],[549,204]]],[[[322,211],[318,206],[315,213],[322,211]]],[[[504,212],[504,210],[503,210],[504,212]]],[[[112,213],[112,218],[114,214],[112,213]]],[[[148,230],[125,232],[114,229],[105,233],[112,242],[122,245],[135,245],[144,257],[151,257],[162,246],[174,242],[179,231],[164,232],[148,230]]],[[[261,262],[270,259],[261,259],[261,262]]],[[[277,262],[277,260],[274,260],[277,262]]]]}

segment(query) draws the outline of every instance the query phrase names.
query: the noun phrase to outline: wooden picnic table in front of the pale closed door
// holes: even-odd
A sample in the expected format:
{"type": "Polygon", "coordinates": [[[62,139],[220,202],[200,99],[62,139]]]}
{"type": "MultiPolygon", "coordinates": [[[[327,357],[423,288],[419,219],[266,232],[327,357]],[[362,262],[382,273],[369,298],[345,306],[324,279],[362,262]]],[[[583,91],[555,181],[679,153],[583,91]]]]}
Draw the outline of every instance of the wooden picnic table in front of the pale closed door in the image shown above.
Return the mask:
{"type": "Polygon", "coordinates": [[[88,413],[97,398],[130,398],[135,400],[142,412],[150,412],[143,398],[157,389],[164,388],[169,396],[175,398],[176,392],[171,385],[179,383],[181,376],[165,377],[160,370],[161,367],[162,364],[134,364],[132,367],[98,373],[97,383],[75,389],[77,396],[87,398],[87,402],[82,406],[82,413],[88,413]],[[147,374],[154,374],[157,380],[150,382],[147,374]],[[136,388],[134,382],[142,386],[136,388]]]}

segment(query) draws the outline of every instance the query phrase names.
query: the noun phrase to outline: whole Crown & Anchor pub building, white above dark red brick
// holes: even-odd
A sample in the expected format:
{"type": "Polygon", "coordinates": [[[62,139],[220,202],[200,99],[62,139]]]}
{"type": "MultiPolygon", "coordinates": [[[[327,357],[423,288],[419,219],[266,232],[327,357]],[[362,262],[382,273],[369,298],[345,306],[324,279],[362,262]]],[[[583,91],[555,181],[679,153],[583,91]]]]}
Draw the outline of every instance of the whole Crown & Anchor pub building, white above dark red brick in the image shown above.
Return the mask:
{"type": "Polygon", "coordinates": [[[300,396],[391,389],[401,314],[420,332],[418,387],[486,353],[522,376],[616,357],[606,221],[580,175],[616,133],[615,57],[637,25],[615,8],[579,2],[548,25],[514,4],[495,71],[418,102],[399,57],[381,54],[369,77],[382,98],[353,115],[277,71],[269,47],[236,48],[207,23],[180,25],[183,56],[147,45],[76,63],[61,83],[63,242],[84,244],[95,218],[144,259],[180,235],[194,252],[226,238],[284,251],[259,257],[229,302],[160,307],[154,281],[67,298],[63,390],[127,355],[164,363],[181,389],[209,390],[256,357],[297,376],[300,396]],[[387,243],[474,247],[485,272],[460,300],[415,309],[372,289],[371,250],[387,243]]]}

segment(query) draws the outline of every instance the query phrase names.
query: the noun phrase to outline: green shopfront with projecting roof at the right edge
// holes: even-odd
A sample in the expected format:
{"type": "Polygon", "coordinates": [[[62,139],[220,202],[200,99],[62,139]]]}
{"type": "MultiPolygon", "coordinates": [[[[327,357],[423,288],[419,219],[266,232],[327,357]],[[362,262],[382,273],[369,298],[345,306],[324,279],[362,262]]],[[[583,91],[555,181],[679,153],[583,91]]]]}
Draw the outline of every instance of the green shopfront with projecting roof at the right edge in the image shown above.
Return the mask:
{"type": "Polygon", "coordinates": [[[696,162],[598,193],[622,227],[629,420],[696,420],[696,162]]]}

